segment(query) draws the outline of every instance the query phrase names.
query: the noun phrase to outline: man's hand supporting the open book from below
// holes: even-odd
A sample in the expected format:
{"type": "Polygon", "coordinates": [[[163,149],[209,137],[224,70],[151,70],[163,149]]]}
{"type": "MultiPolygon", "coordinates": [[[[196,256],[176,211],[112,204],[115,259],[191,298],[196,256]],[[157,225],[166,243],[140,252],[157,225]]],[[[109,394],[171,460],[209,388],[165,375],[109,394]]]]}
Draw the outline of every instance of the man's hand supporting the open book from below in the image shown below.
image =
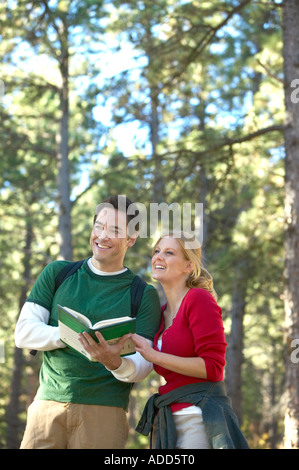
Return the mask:
{"type": "Polygon", "coordinates": [[[117,343],[108,344],[99,331],[95,334],[99,340],[98,343],[86,331],[79,335],[80,343],[95,361],[100,362],[109,370],[118,369],[122,363],[120,352],[131,335],[124,335],[117,343]]]}

